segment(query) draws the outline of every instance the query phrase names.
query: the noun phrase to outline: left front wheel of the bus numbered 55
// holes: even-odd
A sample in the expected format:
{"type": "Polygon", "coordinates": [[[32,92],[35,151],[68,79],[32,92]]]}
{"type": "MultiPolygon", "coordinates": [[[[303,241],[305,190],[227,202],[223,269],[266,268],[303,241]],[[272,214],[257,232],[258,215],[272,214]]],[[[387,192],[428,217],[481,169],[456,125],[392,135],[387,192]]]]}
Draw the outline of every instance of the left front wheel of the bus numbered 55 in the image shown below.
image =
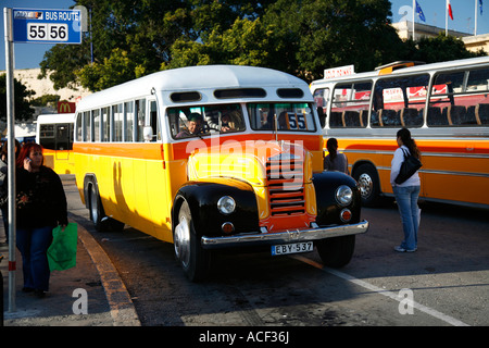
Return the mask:
{"type": "Polygon", "coordinates": [[[191,282],[202,281],[209,273],[210,252],[203,250],[193,228],[192,215],[184,201],[178,212],[178,225],[174,232],[175,256],[191,282]]]}

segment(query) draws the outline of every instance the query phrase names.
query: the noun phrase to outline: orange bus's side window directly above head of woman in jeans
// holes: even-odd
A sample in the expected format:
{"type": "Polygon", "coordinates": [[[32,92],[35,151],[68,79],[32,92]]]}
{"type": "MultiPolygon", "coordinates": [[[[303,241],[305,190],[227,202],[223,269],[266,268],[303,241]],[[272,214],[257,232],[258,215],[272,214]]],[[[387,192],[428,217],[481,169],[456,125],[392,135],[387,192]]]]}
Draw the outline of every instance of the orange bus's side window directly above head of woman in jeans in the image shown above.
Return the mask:
{"type": "Polygon", "coordinates": [[[379,79],[375,85],[373,127],[421,127],[429,75],[379,79]]]}

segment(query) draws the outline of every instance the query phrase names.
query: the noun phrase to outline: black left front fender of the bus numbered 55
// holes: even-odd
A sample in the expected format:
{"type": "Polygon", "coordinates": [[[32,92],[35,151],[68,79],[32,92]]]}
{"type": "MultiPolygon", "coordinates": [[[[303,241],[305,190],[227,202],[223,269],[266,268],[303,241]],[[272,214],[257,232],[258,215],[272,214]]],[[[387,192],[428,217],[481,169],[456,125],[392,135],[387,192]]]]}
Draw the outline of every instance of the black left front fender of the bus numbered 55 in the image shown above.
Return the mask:
{"type": "Polygon", "coordinates": [[[233,178],[186,183],[175,195],[172,208],[173,229],[178,223],[178,210],[184,200],[189,204],[199,237],[223,236],[221,226],[225,222],[234,224],[233,234],[259,231],[256,198],[248,183],[233,178]],[[236,209],[229,215],[224,215],[217,210],[217,201],[223,196],[230,196],[236,202],[236,209]]]}

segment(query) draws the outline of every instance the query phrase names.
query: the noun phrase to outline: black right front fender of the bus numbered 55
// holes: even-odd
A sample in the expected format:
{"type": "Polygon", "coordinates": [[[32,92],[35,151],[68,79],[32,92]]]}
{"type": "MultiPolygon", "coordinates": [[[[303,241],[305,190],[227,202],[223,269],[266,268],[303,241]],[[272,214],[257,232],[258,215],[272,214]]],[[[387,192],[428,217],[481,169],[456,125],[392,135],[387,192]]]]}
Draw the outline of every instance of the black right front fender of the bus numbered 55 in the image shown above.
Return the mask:
{"type": "Polygon", "coordinates": [[[344,207],[341,207],[335,198],[336,190],[341,185],[347,185],[353,190],[353,200],[347,206],[352,212],[349,223],[360,222],[361,195],[354,178],[344,173],[325,171],[313,175],[313,184],[317,203],[316,223],[319,226],[344,224],[339,217],[340,211],[344,207]]]}

